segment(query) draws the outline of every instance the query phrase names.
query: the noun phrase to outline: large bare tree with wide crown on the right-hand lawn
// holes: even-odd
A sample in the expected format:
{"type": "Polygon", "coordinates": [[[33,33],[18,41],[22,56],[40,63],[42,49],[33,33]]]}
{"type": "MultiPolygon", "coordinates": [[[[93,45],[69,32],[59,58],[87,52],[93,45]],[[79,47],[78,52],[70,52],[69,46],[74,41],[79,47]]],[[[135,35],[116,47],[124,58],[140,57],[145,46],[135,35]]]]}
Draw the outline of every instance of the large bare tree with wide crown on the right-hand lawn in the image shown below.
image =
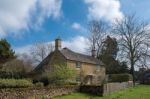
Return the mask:
{"type": "Polygon", "coordinates": [[[148,24],[136,19],[135,15],[125,16],[122,20],[117,20],[113,27],[113,32],[119,38],[120,49],[124,53],[131,66],[133,82],[135,84],[134,69],[136,64],[140,64],[142,59],[149,56],[150,34],[148,24]]]}

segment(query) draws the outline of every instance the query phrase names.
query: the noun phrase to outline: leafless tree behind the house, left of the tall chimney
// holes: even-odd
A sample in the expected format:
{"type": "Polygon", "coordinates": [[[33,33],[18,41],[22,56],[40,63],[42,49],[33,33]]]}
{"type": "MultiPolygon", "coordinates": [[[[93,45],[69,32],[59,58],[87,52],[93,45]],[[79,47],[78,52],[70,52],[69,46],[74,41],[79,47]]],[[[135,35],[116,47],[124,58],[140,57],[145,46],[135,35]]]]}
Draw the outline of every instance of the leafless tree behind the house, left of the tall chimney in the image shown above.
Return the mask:
{"type": "Polygon", "coordinates": [[[36,43],[31,48],[31,55],[35,62],[41,62],[50,52],[54,50],[52,43],[36,43]]]}

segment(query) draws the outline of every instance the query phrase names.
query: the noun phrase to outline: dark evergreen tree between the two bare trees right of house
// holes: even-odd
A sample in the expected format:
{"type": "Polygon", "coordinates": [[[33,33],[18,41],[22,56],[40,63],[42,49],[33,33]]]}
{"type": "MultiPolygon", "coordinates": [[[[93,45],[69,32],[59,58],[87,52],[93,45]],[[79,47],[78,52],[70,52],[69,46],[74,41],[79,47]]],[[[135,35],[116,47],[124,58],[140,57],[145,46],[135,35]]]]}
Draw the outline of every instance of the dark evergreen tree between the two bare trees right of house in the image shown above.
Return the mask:
{"type": "Polygon", "coordinates": [[[115,38],[107,36],[103,42],[103,47],[99,59],[105,64],[107,74],[127,73],[128,66],[125,62],[116,60],[119,51],[118,43],[115,38]]]}

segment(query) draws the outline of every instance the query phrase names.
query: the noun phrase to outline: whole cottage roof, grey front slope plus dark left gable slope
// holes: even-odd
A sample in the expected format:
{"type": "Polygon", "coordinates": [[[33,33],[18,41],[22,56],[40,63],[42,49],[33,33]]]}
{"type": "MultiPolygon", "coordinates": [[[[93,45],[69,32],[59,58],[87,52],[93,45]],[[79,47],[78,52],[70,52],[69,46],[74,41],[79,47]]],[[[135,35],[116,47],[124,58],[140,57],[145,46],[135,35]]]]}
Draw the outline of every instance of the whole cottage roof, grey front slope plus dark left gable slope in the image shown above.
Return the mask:
{"type": "MultiPolygon", "coordinates": [[[[51,60],[51,57],[53,56],[54,52],[51,52],[35,69],[34,71],[38,71],[38,70],[43,70],[43,66],[47,65],[49,63],[49,61],[51,60]]],[[[84,54],[80,54],[80,53],[76,53],[71,51],[68,48],[63,48],[62,50],[60,50],[60,53],[67,59],[67,60],[72,60],[72,61],[79,61],[79,62],[84,62],[84,63],[90,63],[90,64],[95,64],[95,65],[103,65],[103,63],[92,57],[92,56],[88,56],[88,55],[84,55],[84,54]]]]}

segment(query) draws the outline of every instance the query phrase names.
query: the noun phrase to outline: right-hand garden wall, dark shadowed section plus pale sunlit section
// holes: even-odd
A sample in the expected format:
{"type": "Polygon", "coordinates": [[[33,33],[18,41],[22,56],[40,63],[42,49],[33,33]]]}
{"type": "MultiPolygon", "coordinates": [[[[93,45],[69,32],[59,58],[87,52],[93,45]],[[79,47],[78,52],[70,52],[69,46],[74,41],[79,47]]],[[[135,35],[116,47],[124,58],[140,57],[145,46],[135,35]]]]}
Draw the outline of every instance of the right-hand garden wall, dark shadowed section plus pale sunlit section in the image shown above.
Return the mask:
{"type": "Polygon", "coordinates": [[[103,86],[83,85],[80,87],[80,92],[90,93],[98,96],[105,96],[131,86],[133,86],[132,82],[107,83],[103,86]]]}

